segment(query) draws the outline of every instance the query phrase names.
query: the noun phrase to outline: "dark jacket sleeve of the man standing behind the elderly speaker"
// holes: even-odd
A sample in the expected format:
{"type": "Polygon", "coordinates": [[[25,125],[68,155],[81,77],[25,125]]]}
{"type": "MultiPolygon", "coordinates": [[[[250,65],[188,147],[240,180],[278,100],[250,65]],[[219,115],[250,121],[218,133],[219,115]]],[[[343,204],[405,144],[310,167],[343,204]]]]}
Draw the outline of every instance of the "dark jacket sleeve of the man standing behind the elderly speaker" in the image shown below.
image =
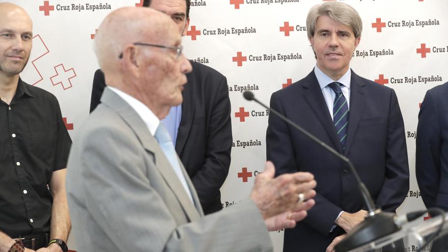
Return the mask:
{"type": "MultiPolygon", "coordinates": [[[[204,163],[191,178],[204,209],[217,197],[219,188],[227,178],[232,148],[232,125],[230,99],[226,77],[221,78],[213,95],[204,163]]],[[[193,125],[194,126],[194,125],[193,125]]]]}

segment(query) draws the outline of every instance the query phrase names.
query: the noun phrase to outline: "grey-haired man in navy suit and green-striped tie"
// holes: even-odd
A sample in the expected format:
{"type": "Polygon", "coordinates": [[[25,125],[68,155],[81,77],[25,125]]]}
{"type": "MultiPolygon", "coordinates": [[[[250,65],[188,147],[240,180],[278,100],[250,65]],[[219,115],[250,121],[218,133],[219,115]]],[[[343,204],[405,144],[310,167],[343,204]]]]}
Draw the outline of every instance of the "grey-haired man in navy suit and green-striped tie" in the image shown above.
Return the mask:
{"type": "MultiPolygon", "coordinates": [[[[272,94],[270,105],[353,162],[377,207],[395,212],[409,189],[403,117],[394,90],[350,69],[362,22],[341,2],[314,6],[306,19],[317,65],[305,78],[272,94]]],[[[316,205],[285,231],[284,251],[331,251],[367,211],[347,164],[274,114],[266,134],[267,159],[277,175],[315,175],[316,205]]]]}

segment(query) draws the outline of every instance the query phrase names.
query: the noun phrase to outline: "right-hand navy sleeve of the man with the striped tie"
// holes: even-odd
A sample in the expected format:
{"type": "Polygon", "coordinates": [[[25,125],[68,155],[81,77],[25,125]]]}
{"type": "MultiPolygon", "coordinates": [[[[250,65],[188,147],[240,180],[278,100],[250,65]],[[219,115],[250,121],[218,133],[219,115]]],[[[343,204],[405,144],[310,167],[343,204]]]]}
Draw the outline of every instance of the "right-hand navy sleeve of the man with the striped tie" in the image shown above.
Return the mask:
{"type": "Polygon", "coordinates": [[[391,89],[390,95],[385,151],[384,182],[375,200],[375,205],[384,211],[395,212],[409,191],[409,164],[403,116],[393,89],[391,89]]]}

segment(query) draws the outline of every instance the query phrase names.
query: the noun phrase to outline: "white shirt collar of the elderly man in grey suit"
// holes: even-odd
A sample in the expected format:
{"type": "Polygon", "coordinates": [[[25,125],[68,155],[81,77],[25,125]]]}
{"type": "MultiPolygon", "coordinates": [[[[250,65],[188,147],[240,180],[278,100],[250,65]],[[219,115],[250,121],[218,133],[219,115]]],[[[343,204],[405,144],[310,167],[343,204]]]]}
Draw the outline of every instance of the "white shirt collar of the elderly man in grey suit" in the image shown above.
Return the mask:
{"type": "Polygon", "coordinates": [[[146,126],[148,127],[149,131],[151,132],[151,135],[154,136],[157,128],[159,127],[160,120],[156,117],[156,115],[153,113],[153,111],[151,111],[151,109],[149,109],[149,107],[147,107],[145,104],[143,104],[143,102],[135,99],[134,97],[126,94],[125,92],[123,92],[119,89],[113,88],[113,87],[109,87],[109,86],[107,86],[107,88],[109,88],[110,90],[117,93],[117,95],[119,95],[123,100],[125,100],[135,110],[135,112],[138,114],[138,116],[140,116],[142,118],[142,120],[145,122],[146,126]]]}

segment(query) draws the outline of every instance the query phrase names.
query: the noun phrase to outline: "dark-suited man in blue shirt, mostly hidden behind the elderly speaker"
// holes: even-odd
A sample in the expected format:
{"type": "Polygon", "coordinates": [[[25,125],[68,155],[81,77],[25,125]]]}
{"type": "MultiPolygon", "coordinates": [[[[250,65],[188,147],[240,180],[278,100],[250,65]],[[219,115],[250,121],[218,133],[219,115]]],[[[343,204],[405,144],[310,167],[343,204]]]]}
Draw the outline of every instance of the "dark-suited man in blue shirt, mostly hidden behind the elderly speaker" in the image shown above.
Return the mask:
{"type": "MultiPolygon", "coordinates": [[[[170,15],[182,36],[186,35],[190,0],[145,0],[143,6],[170,15]]],[[[222,209],[219,188],[229,173],[231,106],[226,77],[208,66],[190,63],[193,70],[187,74],[184,101],[173,107],[162,122],[171,133],[204,213],[209,214],[222,209]]],[[[98,69],[93,80],[91,112],[100,103],[104,87],[104,74],[98,69]]]]}

